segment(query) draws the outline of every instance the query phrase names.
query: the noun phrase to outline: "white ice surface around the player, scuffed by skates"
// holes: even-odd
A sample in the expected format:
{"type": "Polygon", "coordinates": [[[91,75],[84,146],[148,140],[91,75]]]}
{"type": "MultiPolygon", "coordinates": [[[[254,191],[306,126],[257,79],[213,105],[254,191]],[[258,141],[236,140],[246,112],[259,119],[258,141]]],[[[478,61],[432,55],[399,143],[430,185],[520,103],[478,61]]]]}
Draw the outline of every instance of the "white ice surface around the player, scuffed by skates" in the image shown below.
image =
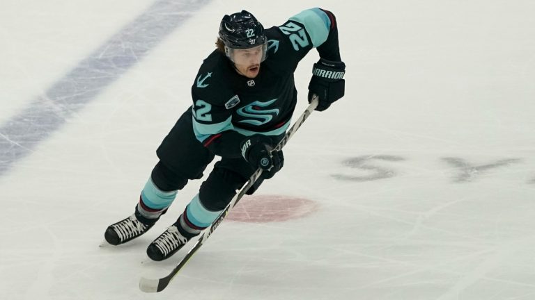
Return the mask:
{"type": "MultiPolygon", "coordinates": [[[[228,2],[194,12],[0,176],[0,299],[535,299],[535,2],[228,2]],[[164,292],[140,292],[183,255],[144,252],[201,181],[150,233],[98,245],[132,213],[222,15],[269,27],[313,6],[338,18],[346,97],[311,115],[258,194],[319,209],[224,222],[164,292]]],[[[2,1],[0,128],[152,3],[2,1]]],[[[295,74],[297,113],[317,58],[295,74]]]]}

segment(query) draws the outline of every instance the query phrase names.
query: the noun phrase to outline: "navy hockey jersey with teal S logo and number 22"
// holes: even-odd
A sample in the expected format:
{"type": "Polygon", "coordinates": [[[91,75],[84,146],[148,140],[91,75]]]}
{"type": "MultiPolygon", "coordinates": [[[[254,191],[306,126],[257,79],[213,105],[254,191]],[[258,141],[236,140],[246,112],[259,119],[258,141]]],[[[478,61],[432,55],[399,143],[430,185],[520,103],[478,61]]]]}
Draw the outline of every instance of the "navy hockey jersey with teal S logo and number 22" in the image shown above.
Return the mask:
{"type": "Polygon", "coordinates": [[[281,135],[290,126],[297,103],[293,73],[312,48],[320,57],[341,60],[336,19],[312,8],[265,30],[267,58],[256,78],[236,72],[231,60],[213,51],[203,61],[194,84],[193,131],[215,155],[240,157],[249,135],[281,135]]]}

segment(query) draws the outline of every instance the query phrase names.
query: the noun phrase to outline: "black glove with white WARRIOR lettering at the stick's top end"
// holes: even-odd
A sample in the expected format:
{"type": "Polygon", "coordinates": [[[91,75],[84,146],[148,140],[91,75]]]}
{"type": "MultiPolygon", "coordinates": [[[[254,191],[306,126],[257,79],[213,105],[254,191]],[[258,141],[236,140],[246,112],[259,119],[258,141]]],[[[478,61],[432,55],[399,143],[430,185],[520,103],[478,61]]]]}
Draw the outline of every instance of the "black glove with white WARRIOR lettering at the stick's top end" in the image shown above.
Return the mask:
{"type": "Polygon", "coordinates": [[[343,75],[346,73],[346,64],[320,58],[312,68],[312,78],[309,83],[309,103],[313,94],[318,95],[318,107],[316,110],[323,111],[331,104],[343,97],[346,81],[343,75]]]}

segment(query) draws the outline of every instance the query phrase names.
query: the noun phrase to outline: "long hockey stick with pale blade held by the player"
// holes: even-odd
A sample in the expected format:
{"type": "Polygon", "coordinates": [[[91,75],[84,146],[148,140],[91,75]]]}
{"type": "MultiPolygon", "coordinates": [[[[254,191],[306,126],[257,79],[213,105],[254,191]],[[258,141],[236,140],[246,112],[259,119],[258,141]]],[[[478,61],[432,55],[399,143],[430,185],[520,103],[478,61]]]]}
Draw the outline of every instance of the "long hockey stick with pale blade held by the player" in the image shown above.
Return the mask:
{"type": "MultiPolygon", "coordinates": [[[[307,109],[304,110],[304,112],[299,117],[299,119],[297,119],[295,124],[293,124],[290,130],[286,132],[286,135],[284,135],[284,138],[279,142],[279,144],[277,144],[274,150],[278,151],[282,149],[284,145],[286,145],[288,140],[290,140],[290,138],[295,134],[295,132],[297,132],[297,129],[299,129],[301,125],[304,123],[304,120],[306,120],[307,117],[309,117],[309,115],[313,112],[313,110],[316,109],[316,106],[318,106],[318,97],[314,95],[309,107],[307,107],[307,109]]],[[[196,253],[196,251],[199,250],[199,248],[201,248],[201,246],[204,244],[204,242],[206,242],[206,240],[210,237],[210,235],[212,235],[212,233],[215,231],[217,226],[219,226],[219,224],[223,222],[226,215],[228,215],[228,211],[230,211],[236,204],[238,204],[238,201],[242,199],[245,192],[247,192],[247,190],[251,188],[251,186],[255,183],[255,181],[258,178],[260,178],[261,174],[262,174],[262,169],[258,168],[256,172],[254,172],[254,174],[251,175],[251,177],[249,178],[249,181],[247,181],[247,183],[245,183],[242,186],[240,191],[237,194],[235,194],[231,202],[228,203],[228,205],[223,210],[223,212],[219,215],[219,217],[217,217],[217,219],[215,219],[215,221],[212,222],[212,225],[206,228],[203,235],[201,235],[199,240],[197,240],[197,242],[192,247],[192,249],[190,249],[189,252],[187,252],[186,256],[184,256],[184,258],[180,260],[180,263],[178,263],[178,265],[173,269],[173,271],[171,271],[171,273],[169,273],[169,275],[162,277],[160,279],[148,279],[148,278],[141,277],[141,280],[139,281],[139,289],[143,292],[162,292],[162,290],[164,290],[164,288],[166,288],[166,286],[169,285],[171,280],[173,280],[173,277],[176,276],[176,274],[178,274],[180,269],[184,267],[184,265],[187,263],[189,258],[192,258],[192,256],[196,253]]]]}

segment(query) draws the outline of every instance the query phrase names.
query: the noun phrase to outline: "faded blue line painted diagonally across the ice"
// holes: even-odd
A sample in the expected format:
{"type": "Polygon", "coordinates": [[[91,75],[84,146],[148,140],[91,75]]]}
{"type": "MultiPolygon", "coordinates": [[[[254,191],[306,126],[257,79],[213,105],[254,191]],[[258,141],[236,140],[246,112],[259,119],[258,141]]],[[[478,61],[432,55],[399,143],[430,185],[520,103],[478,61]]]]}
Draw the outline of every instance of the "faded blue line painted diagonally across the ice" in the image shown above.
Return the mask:
{"type": "Polygon", "coordinates": [[[0,176],[210,0],[157,0],[0,126],[0,176]]]}

